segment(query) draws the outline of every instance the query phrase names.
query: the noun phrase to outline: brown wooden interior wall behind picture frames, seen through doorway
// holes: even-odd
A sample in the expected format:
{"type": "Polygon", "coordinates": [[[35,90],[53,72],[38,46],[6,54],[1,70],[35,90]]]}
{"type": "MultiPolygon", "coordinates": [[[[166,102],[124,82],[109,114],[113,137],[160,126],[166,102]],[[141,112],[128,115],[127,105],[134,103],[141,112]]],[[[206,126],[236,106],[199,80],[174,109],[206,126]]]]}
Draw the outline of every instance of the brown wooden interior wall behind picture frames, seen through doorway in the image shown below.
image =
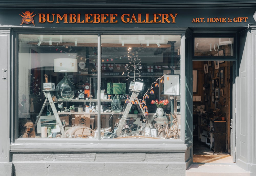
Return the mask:
{"type": "MultiPolygon", "coordinates": [[[[215,63],[219,61],[193,61],[193,70],[197,70],[197,92],[193,93],[193,96],[201,96],[200,102],[193,102],[193,108],[197,108],[199,105],[205,105],[206,112],[216,111],[220,109],[220,112],[215,112],[214,118],[225,117],[226,123],[230,123],[230,64],[233,62],[222,61],[218,63],[216,68],[215,63]],[[210,63],[210,66],[208,66],[210,63]],[[208,73],[205,73],[204,64],[208,66],[208,73]],[[224,70],[223,84],[221,82],[220,69],[224,70]],[[214,82],[214,86],[212,83],[214,82]],[[217,84],[218,82],[218,84],[217,84]],[[203,90],[203,87],[208,87],[203,90]],[[216,90],[217,95],[216,96],[216,90]],[[206,99],[205,99],[206,94],[206,99]],[[214,97],[212,97],[214,96],[214,97]]],[[[227,126],[227,146],[230,146],[230,129],[227,126]]],[[[229,149],[229,148],[228,148],[229,149]]]]}

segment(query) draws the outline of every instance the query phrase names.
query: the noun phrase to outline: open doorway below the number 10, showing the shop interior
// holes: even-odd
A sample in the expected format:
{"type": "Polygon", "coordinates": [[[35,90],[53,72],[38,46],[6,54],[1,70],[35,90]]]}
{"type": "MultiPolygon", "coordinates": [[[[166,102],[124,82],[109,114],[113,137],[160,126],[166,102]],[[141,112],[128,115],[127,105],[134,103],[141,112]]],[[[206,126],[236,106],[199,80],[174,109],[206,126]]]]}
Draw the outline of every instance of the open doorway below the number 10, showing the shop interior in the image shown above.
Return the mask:
{"type": "Polygon", "coordinates": [[[229,125],[232,64],[230,61],[193,61],[194,163],[233,163],[229,125]]]}

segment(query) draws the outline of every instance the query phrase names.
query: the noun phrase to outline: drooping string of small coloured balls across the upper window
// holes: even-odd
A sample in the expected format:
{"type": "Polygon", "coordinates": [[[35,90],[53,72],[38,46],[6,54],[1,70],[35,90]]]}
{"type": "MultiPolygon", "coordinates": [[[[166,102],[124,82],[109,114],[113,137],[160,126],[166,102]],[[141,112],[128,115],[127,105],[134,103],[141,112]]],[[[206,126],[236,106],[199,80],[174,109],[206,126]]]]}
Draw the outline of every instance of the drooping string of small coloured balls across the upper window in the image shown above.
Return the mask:
{"type": "MultiPolygon", "coordinates": [[[[87,61],[87,59],[89,59],[90,61],[92,60],[92,59],[90,59],[90,58],[86,58],[86,57],[78,57],[77,55],[74,55],[74,54],[72,54],[72,53],[69,53],[69,52],[66,52],[66,51],[64,51],[64,50],[62,50],[62,49],[60,49],[60,48],[58,48],[58,47],[56,47],[56,46],[53,46],[53,47],[55,47],[56,48],[56,51],[60,51],[60,53],[66,53],[66,54],[68,54],[68,56],[74,56],[74,57],[77,57],[77,58],[80,58],[80,60],[85,60],[85,61],[87,61]]],[[[143,47],[143,48],[140,48],[140,49],[138,49],[137,51],[134,51],[134,52],[130,52],[131,51],[131,49],[130,48],[128,48],[128,54],[126,54],[126,55],[122,55],[122,56],[118,56],[118,57],[112,57],[112,58],[105,58],[105,59],[101,59],[101,61],[102,62],[104,62],[104,61],[113,61],[114,59],[115,60],[118,60],[118,59],[122,59],[122,57],[130,57],[130,55],[135,55],[135,54],[138,54],[138,52],[139,51],[141,51],[142,49],[145,49],[146,47],[143,47]]],[[[94,55],[95,55],[96,53],[94,53],[94,55]]],[[[92,61],[93,62],[95,62],[96,60],[98,60],[98,59],[93,59],[92,61]]]]}

